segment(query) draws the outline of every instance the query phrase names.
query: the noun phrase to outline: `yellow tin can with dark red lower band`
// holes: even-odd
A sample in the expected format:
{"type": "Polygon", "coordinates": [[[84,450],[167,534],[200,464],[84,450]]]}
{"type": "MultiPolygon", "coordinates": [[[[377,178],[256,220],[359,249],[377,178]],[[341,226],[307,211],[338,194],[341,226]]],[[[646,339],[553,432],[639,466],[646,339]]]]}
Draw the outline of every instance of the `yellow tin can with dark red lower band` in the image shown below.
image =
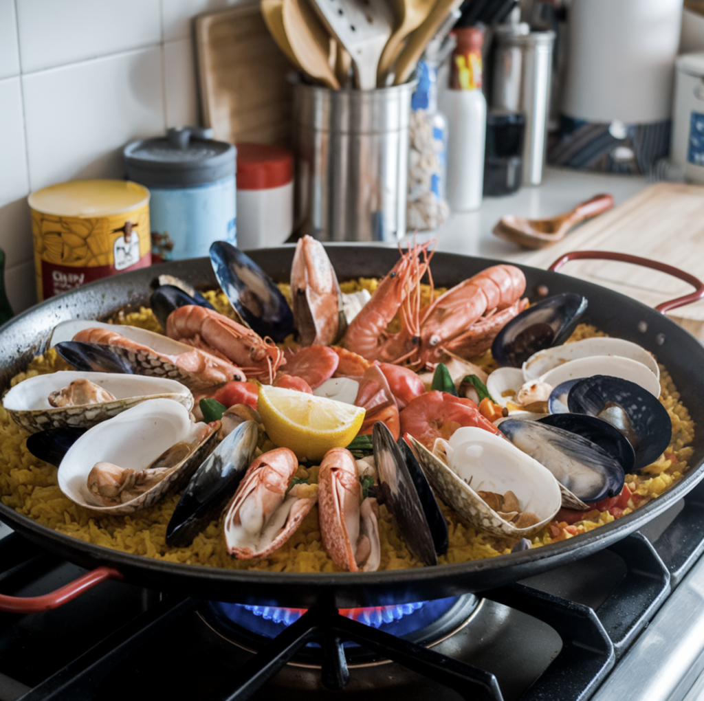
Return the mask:
{"type": "Polygon", "coordinates": [[[151,265],[149,190],[73,180],[30,194],[37,299],[151,265]]]}

